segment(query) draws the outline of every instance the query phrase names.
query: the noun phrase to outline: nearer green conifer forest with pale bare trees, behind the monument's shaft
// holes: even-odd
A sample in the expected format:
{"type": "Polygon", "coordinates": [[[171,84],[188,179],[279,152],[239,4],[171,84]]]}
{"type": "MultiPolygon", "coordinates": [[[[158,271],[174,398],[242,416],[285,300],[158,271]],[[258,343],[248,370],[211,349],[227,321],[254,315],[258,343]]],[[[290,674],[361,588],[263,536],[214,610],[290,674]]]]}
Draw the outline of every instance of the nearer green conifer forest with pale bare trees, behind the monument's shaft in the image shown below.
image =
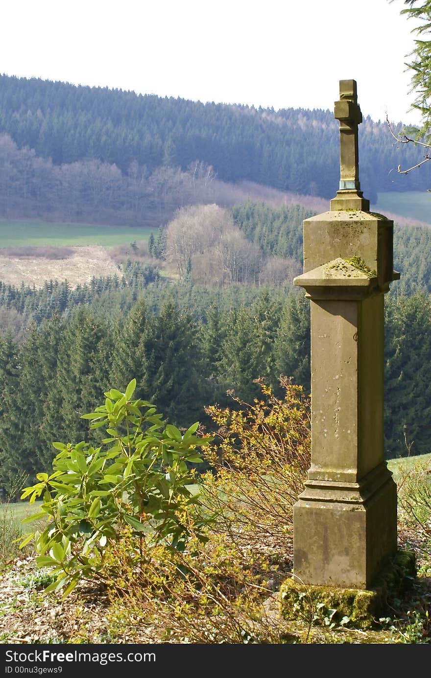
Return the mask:
{"type": "MultiPolygon", "coordinates": [[[[0,282],[0,485],[49,470],[52,441],[87,439],[80,415],[133,377],[179,426],[208,424],[204,407],[230,405],[231,389],[252,402],[259,377],[276,393],[280,375],[308,391],[310,304],[292,285],[308,214],[263,203],[187,207],[151,241],[153,265],[126,258],[119,275],[75,288],[0,282]],[[225,275],[204,283],[207,255],[225,275]],[[160,275],[164,262],[177,281],[160,275]]],[[[396,227],[394,262],[402,278],[386,297],[389,458],[407,454],[406,439],[415,454],[429,452],[431,231],[396,227]]]]}

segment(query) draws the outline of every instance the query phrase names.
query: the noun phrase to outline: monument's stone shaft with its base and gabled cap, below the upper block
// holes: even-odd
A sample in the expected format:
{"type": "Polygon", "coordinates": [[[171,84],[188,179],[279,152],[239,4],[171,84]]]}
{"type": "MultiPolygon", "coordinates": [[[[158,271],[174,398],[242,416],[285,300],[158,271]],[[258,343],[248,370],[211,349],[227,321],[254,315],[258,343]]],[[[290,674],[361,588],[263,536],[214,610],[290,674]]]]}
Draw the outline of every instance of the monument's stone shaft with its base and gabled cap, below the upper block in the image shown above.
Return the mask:
{"type": "Polygon", "coordinates": [[[367,589],[396,553],[396,485],[383,454],[383,294],[344,258],[314,268],[312,465],[293,509],[302,582],[367,589]]]}

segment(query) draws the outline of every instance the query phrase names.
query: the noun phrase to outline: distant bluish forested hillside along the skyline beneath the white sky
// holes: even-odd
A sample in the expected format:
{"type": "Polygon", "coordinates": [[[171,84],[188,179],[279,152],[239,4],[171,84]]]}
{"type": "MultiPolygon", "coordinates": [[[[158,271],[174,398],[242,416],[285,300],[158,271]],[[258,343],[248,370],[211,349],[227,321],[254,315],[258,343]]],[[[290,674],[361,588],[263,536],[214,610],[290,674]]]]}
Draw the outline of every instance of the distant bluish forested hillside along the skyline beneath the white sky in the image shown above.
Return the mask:
{"type": "MultiPolygon", "coordinates": [[[[338,127],[332,111],[202,104],[3,75],[0,134],[7,136],[0,144],[0,205],[4,211],[15,182],[24,201],[29,193],[44,201],[50,195],[53,207],[74,188],[73,204],[79,177],[94,209],[108,201],[112,210],[125,211],[127,203],[130,211],[141,192],[162,202],[167,187],[181,192],[180,175],[195,179],[199,161],[207,179],[213,172],[225,182],[251,180],[331,198],[339,181],[338,127]],[[12,178],[11,140],[17,151],[27,149],[22,171],[12,178]]],[[[386,123],[364,117],[359,142],[361,185],[371,201],[378,191],[428,188],[427,166],[414,176],[396,173],[400,163],[415,164],[417,151],[413,144],[398,148],[386,123]]]]}

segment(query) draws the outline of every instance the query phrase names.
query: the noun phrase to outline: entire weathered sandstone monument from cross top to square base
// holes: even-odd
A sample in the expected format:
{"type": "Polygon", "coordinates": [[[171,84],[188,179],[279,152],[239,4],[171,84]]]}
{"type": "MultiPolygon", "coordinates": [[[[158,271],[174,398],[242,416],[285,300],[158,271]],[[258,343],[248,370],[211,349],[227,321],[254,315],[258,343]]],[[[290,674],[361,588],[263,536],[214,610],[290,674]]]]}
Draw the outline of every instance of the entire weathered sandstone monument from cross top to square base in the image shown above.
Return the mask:
{"type": "MultiPolygon", "coordinates": [[[[396,485],[383,451],[383,295],[393,223],[369,212],[358,174],[356,82],[340,81],[340,187],[303,223],[311,302],[312,464],[294,506],[295,580],[369,589],[397,551],[396,485]]],[[[286,593],[284,594],[286,595],[286,593]]]]}

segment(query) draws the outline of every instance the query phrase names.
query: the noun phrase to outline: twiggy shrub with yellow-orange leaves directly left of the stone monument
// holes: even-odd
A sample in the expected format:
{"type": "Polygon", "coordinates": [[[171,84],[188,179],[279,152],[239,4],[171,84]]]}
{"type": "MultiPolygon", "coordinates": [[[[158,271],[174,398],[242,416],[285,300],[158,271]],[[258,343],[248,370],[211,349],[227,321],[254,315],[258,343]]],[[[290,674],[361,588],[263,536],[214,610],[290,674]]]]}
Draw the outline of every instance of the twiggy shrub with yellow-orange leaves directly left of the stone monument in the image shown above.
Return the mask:
{"type": "Polygon", "coordinates": [[[283,549],[310,468],[310,399],[286,377],[282,399],[257,383],[263,397],[253,403],[232,395],[235,409],[206,408],[219,429],[206,450],[215,473],[202,479],[202,503],[218,517],[213,530],[283,549]]]}

